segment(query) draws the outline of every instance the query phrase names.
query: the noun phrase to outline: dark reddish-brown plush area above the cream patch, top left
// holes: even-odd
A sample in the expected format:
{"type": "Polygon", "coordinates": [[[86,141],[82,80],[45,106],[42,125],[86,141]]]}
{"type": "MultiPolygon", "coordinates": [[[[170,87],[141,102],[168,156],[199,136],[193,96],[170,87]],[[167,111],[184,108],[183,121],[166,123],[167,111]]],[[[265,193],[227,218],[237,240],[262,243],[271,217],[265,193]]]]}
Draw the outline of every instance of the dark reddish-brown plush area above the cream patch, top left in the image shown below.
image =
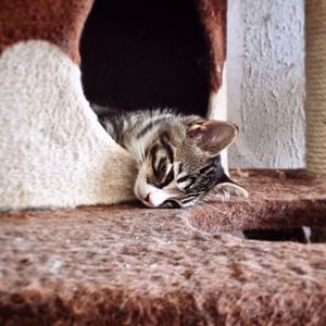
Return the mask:
{"type": "Polygon", "coordinates": [[[47,40],[79,63],[79,38],[92,0],[2,0],[0,54],[18,41],[47,40]]]}

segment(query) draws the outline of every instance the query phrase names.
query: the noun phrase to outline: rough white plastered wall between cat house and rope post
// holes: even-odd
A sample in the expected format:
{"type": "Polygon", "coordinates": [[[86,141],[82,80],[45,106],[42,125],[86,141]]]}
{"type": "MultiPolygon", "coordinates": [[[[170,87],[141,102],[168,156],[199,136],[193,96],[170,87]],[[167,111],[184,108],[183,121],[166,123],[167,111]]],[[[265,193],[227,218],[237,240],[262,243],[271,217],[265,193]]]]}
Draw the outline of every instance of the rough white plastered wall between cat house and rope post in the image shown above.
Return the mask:
{"type": "Polygon", "coordinates": [[[230,166],[304,166],[303,2],[228,0],[230,166]]]}

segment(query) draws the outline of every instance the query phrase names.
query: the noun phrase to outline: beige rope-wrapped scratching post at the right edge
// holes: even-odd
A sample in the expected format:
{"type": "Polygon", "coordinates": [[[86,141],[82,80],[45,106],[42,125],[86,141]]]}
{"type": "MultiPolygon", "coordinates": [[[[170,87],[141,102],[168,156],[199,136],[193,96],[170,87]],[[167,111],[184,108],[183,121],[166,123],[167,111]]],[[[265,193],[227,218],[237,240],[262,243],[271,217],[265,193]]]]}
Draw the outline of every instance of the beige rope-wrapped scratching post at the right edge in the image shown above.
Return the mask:
{"type": "Polygon", "coordinates": [[[326,8],[323,1],[306,1],[306,165],[315,175],[326,175],[326,8]]]}

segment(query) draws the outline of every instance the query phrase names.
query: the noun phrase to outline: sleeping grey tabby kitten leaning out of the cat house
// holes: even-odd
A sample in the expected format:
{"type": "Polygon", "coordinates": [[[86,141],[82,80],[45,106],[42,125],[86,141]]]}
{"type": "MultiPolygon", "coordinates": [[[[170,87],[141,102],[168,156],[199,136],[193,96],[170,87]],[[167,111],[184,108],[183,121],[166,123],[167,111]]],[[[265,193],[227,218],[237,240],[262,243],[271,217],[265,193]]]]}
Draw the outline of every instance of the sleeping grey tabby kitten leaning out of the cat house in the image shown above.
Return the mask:
{"type": "Polygon", "coordinates": [[[238,134],[235,125],[170,110],[93,110],[111,137],[135,158],[139,173],[134,190],[147,206],[189,206],[212,189],[246,196],[221,165],[220,152],[238,134]]]}

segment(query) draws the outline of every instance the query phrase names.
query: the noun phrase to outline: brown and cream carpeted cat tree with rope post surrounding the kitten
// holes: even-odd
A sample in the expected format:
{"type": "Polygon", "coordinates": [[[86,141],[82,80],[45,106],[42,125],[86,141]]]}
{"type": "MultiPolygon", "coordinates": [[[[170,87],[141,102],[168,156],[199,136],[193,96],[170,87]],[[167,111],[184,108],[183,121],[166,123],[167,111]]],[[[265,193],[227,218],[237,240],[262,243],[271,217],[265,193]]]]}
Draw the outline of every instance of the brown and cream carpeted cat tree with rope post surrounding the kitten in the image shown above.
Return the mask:
{"type": "MultiPolygon", "coordinates": [[[[217,233],[325,226],[325,178],[247,171],[234,177],[252,189],[248,200],[99,205],[133,199],[136,171],[83,92],[78,43],[91,5],[1,2],[0,208],[10,212],[0,215],[0,325],[325,325],[325,244],[217,233]],[[95,206],[15,211],[76,205],[95,206]]],[[[197,9],[218,117],[226,1],[197,9]]],[[[324,1],[308,1],[306,22],[308,170],[326,175],[324,1]]]]}

